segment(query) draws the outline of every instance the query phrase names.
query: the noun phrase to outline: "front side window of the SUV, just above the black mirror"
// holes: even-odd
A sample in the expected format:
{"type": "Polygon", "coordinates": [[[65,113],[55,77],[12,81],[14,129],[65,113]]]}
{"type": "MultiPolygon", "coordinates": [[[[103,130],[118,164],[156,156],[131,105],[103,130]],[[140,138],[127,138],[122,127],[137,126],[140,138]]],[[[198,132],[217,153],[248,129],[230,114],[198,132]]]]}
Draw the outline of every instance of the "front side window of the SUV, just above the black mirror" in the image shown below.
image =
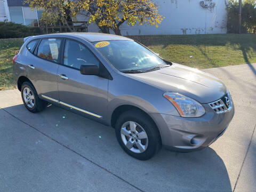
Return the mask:
{"type": "Polygon", "coordinates": [[[66,40],[63,64],[80,69],[81,65],[100,65],[100,61],[85,46],[75,41],[66,40]]]}

